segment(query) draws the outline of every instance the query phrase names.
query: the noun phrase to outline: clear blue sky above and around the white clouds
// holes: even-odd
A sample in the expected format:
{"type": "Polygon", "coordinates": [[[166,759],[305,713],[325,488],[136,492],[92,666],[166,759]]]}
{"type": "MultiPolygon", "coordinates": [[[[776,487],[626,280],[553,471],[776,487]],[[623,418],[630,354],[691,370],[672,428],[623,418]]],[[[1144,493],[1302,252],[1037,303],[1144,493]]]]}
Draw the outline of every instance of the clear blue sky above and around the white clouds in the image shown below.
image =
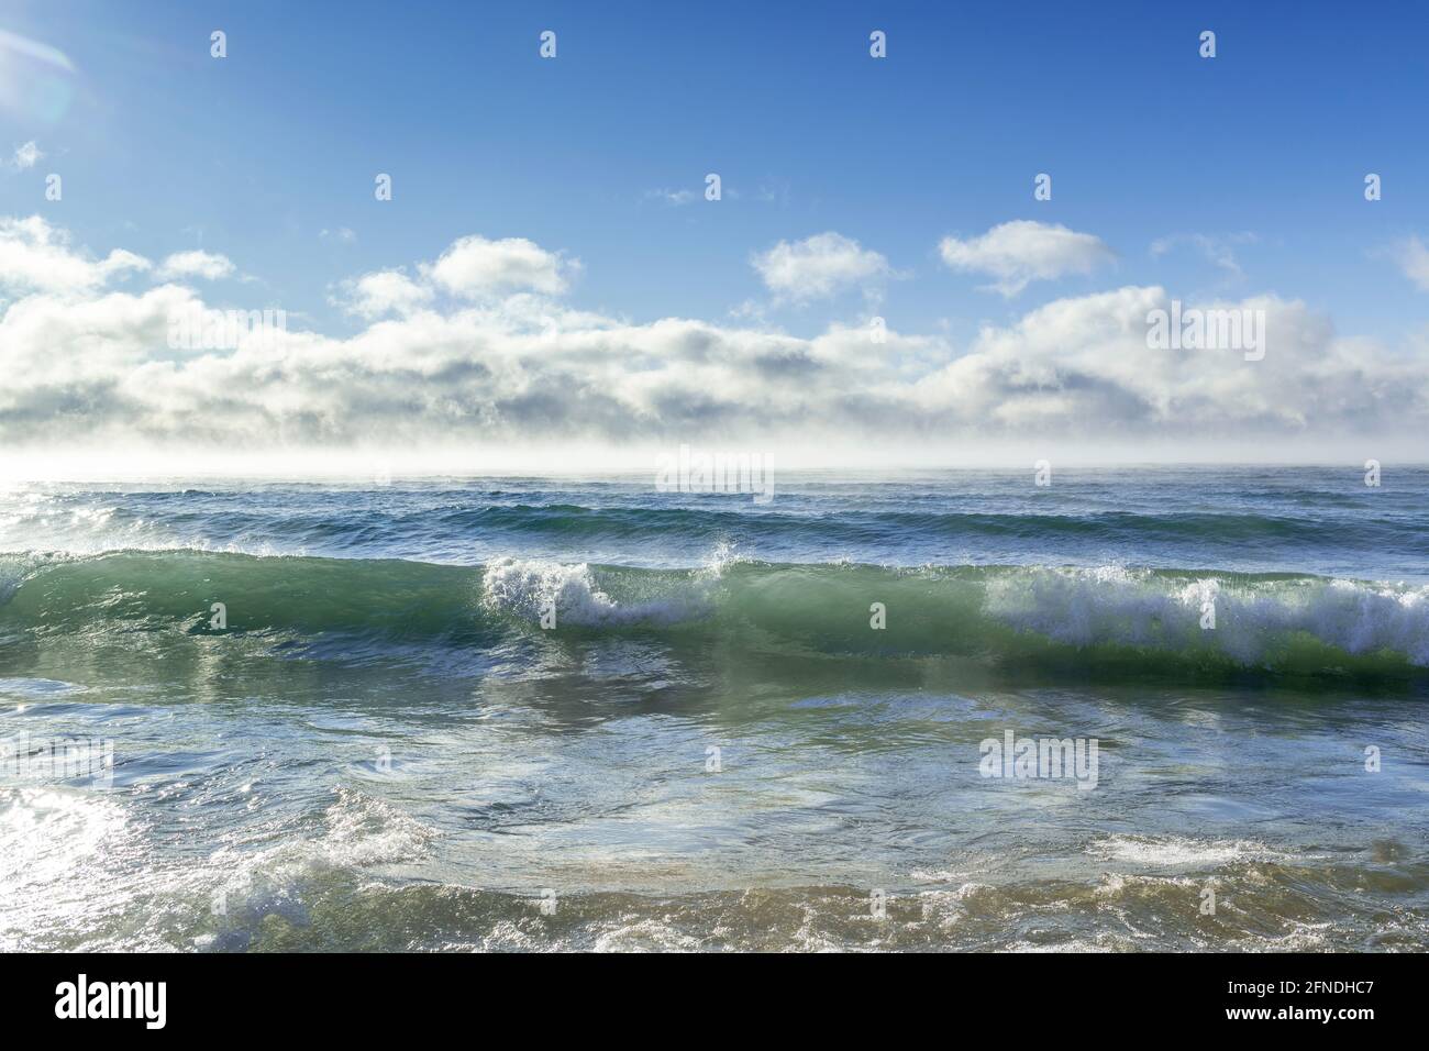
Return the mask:
{"type": "MultiPolygon", "coordinates": [[[[1335,339],[1406,359],[1429,343],[1429,263],[1416,277],[1406,262],[1406,246],[1423,253],[1429,239],[1420,16],[1412,3],[1369,14],[1320,3],[20,0],[0,30],[73,69],[37,92],[0,49],[11,66],[7,80],[0,64],[0,157],[39,152],[6,162],[0,216],[43,217],[50,233],[30,230],[27,250],[67,237],[89,260],[153,260],[150,275],[176,252],[219,253],[234,270],[203,285],[206,305],[283,307],[339,340],[373,323],[344,283],[416,275],[480,235],[579,259],[560,307],[636,326],[694,319],[813,346],[877,313],[912,340],[889,352],[903,379],[913,359],[926,375],[977,352],[987,326],[1010,332],[1045,305],[1116,289],[1303,305],[1312,319],[1296,325],[1322,329],[1290,340],[1305,367],[1335,339]],[[216,29],[223,60],[209,54],[216,29]],[[1208,29],[1210,60],[1198,53],[1208,29]],[[537,53],[543,30],[557,33],[554,60],[537,53]],[[872,30],[887,34],[886,59],[869,56],[872,30]],[[723,200],[703,200],[710,172],[723,200]],[[1373,203],[1370,172],[1383,179],[1373,203]],[[61,202],[44,200],[50,173],[63,174],[61,202]],[[377,173],[392,174],[392,202],[374,200],[377,173]],[[1052,174],[1052,200],[1033,200],[1037,173],[1052,174]],[[1003,292],[940,255],[945,237],[1012,222],[1066,227],[1103,255],[1003,292]],[[759,253],[830,232],[877,253],[860,256],[877,273],[809,296],[762,280],[759,253]]],[[[993,365],[1006,375],[1006,360],[993,365]]],[[[949,389],[963,382],[953,373],[949,389]]],[[[1376,375],[1360,418],[1389,412],[1395,388],[1415,392],[1415,412],[1429,405],[1429,372],[1409,388],[1376,375]]],[[[1065,390],[1107,382],[1059,376],[1065,390]]],[[[1137,392],[1136,413],[1169,419],[1167,405],[1189,403],[1179,382],[1137,392]]],[[[47,389],[34,405],[63,398],[47,389]]],[[[502,415],[509,398],[492,405],[502,415]]],[[[1269,425],[1269,400],[1248,406],[1228,419],[1269,425]]],[[[1309,428],[1328,410],[1306,400],[1276,425],[1309,428]]]]}

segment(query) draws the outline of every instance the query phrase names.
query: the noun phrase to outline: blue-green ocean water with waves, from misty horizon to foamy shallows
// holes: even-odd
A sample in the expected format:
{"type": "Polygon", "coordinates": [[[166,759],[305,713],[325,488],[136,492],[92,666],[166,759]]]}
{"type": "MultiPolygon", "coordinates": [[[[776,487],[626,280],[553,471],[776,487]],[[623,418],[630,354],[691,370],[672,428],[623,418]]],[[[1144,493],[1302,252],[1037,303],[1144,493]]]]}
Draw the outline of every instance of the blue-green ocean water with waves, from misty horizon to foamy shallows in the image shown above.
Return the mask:
{"type": "Polygon", "coordinates": [[[1426,526],[1410,468],[14,486],[0,948],[1425,949],[1426,526]]]}

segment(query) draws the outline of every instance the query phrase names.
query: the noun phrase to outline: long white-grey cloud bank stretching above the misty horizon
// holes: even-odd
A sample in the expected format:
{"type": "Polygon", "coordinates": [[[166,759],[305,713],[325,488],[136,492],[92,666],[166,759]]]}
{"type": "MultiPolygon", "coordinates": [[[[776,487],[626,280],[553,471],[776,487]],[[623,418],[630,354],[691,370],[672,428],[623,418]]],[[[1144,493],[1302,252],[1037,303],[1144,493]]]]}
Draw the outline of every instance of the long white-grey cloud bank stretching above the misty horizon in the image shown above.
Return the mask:
{"type": "Polygon", "coordinates": [[[797,435],[869,448],[1045,448],[1240,436],[1283,450],[1306,438],[1429,428],[1429,343],[1342,339],[1306,305],[1276,297],[1187,303],[1265,310],[1266,355],[1246,362],[1239,352],[1149,349],[1146,315],[1169,305],[1159,287],[1060,299],[966,346],[892,329],[875,345],[845,326],[807,339],[755,323],[630,323],[520,287],[446,299],[426,277],[436,266],[423,266],[417,277],[380,270],[346,286],[373,322],[352,336],[289,330],[276,346],[176,355],[167,322],[201,307],[197,295],[179,285],[104,289],[103,266],[43,220],[0,220],[0,275],[21,273],[29,289],[0,306],[0,446],[189,449],[207,435],[252,449],[629,448],[797,435]],[[20,267],[13,245],[27,260],[20,267]]]}

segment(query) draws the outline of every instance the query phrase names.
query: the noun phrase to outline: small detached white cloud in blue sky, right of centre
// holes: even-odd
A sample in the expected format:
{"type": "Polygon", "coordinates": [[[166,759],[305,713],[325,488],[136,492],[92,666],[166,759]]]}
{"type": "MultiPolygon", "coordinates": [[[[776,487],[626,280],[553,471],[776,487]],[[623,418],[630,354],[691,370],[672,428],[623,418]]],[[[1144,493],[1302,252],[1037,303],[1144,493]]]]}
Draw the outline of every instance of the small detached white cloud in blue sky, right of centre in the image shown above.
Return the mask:
{"type": "Polygon", "coordinates": [[[995,226],[969,240],[943,237],[937,247],[952,269],[996,277],[989,287],[1007,297],[1030,282],[1090,273],[1113,259],[1112,250],[1090,233],[1027,219],[995,226]]]}

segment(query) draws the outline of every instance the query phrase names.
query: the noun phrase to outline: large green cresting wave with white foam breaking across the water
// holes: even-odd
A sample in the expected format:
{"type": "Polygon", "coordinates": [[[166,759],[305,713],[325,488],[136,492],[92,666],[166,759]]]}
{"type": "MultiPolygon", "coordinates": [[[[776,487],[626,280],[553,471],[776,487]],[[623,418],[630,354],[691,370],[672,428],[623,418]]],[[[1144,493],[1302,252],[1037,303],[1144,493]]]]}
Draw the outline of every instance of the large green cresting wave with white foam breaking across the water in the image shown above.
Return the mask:
{"type": "Polygon", "coordinates": [[[502,559],[442,566],[214,552],[0,556],[0,645],[227,632],[492,648],[644,633],[672,648],[823,658],[972,658],[1092,676],[1256,672],[1425,682],[1429,588],[1285,573],[1105,566],[762,563],[633,569],[502,559]],[[886,626],[876,629],[875,603],[886,626]],[[539,626],[554,608],[557,632],[539,626]],[[1206,629],[1206,611],[1215,628],[1206,629]]]}

